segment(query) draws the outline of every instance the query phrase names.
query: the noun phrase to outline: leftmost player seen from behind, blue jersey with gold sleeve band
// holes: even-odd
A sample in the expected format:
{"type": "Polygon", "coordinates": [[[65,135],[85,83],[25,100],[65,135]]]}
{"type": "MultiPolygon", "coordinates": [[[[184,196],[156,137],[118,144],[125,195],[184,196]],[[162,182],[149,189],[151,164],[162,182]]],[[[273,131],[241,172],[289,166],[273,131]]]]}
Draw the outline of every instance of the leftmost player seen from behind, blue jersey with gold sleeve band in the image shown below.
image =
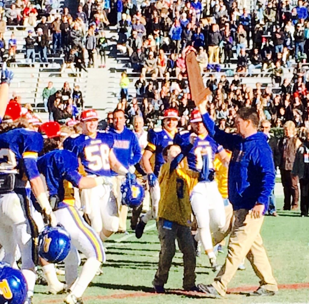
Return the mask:
{"type": "MultiPolygon", "coordinates": [[[[32,260],[32,213],[34,208],[28,200],[27,180],[42,212],[51,226],[57,220],[49,205],[43,182],[38,172],[37,155],[43,148],[43,138],[38,132],[26,129],[28,122],[21,120],[18,103],[9,103],[1,125],[0,134],[0,243],[5,249],[4,261],[15,261],[17,244],[21,252],[21,271],[28,285],[25,303],[31,303],[36,281],[35,264],[32,260]]],[[[35,236],[33,236],[35,237],[35,236]]]]}

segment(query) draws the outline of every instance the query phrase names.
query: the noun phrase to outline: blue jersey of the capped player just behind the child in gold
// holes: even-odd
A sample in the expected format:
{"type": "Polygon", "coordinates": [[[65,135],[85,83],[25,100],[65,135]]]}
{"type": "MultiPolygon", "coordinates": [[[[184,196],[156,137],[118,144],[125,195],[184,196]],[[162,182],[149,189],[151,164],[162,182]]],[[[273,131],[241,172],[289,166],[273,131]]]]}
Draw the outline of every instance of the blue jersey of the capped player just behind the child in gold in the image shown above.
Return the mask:
{"type": "Polygon", "coordinates": [[[165,163],[162,152],[165,147],[173,144],[174,137],[165,129],[150,129],[148,131],[148,145],[145,150],[155,154],[154,173],[159,175],[161,166],[165,163]]]}

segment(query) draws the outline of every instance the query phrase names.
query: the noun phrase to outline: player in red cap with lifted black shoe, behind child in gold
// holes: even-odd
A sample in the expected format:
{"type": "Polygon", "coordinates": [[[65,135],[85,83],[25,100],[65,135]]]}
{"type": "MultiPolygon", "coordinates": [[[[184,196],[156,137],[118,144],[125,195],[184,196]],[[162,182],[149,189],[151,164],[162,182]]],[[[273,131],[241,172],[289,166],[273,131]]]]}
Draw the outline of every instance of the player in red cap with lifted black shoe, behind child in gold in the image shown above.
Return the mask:
{"type": "Polygon", "coordinates": [[[138,239],[142,237],[147,222],[158,216],[160,200],[158,175],[161,166],[164,164],[162,151],[165,147],[173,143],[174,136],[177,133],[178,120],[178,111],[176,109],[167,109],[163,114],[163,128],[148,131],[148,145],[145,148],[142,163],[148,175],[152,208],[140,218],[135,228],[135,235],[138,239]],[[155,155],[154,169],[152,169],[150,163],[150,158],[153,154],[155,155]]]}

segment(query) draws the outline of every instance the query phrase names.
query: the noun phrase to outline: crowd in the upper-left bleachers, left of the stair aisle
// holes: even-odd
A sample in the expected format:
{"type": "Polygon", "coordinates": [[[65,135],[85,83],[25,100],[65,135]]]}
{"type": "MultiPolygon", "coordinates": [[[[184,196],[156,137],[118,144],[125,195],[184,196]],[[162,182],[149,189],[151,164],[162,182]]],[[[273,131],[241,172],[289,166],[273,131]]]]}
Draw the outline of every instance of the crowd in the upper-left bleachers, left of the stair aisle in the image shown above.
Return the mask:
{"type": "Polygon", "coordinates": [[[108,40],[104,28],[110,24],[109,0],[81,1],[74,12],[68,7],[62,9],[60,5],[57,0],[17,0],[3,10],[0,17],[1,60],[16,61],[14,34],[9,41],[3,40],[7,26],[16,27],[15,31],[28,29],[24,39],[26,61],[30,64],[35,61],[47,63],[49,56],[64,57],[62,71],[71,68],[78,74],[81,70],[87,71],[87,66],[94,67],[94,57],[98,54],[101,58],[99,67],[105,67],[108,40]]]}

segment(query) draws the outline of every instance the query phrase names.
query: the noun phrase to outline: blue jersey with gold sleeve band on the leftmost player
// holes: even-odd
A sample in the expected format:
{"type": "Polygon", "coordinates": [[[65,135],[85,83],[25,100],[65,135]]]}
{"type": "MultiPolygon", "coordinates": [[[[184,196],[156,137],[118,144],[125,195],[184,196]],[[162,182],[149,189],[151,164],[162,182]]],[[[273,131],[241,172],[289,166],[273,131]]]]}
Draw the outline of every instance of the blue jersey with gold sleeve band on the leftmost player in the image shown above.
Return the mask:
{"type": "MultiPolygon", "coordinates": [[[[43,137],[38,132],[18,128],[0,134],[0,171],[4,173],[20,171],[23,174],[22,160],[36,161],[42,149],[43,137]]],[[[28,168],[29,170],[31,171],[31,168],[28,168]]],[[[31,175],[32,172],[27,173],[31,175]]]]}

